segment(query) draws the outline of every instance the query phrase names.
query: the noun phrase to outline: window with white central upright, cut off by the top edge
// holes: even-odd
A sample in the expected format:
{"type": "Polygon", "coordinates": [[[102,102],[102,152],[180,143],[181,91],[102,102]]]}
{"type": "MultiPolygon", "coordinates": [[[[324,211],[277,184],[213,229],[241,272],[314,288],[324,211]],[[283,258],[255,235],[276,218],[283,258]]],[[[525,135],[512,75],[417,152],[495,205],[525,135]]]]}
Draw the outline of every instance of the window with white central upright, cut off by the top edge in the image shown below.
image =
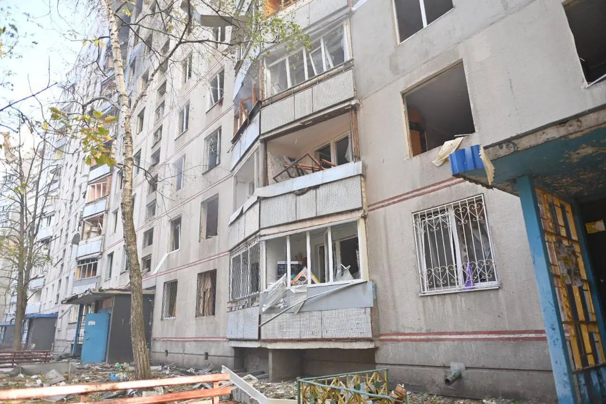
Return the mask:
{"type": "Polygon", "coordinates": [[[399,42],[453,8],[452,0],[395,0],[399,42]]]}

